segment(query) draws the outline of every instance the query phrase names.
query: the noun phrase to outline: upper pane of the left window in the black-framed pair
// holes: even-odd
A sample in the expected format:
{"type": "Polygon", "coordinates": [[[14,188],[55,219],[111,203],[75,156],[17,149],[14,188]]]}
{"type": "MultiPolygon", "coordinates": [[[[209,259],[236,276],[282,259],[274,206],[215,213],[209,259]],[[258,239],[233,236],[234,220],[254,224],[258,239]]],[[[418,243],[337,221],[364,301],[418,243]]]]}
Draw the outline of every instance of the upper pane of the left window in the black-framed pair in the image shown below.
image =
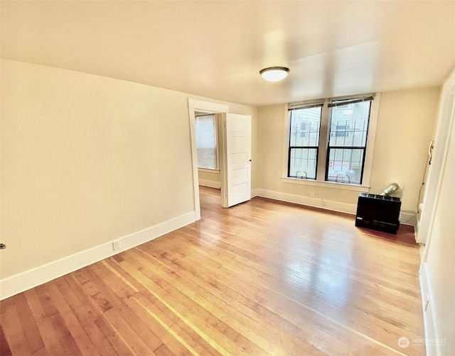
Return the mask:
{"type": "Polygon", "coordinates": [[[319,145],[319,129],[321,127],[322,108],[306,108],[289,111],[291,116],[291,131],[289,145],[314,146],[319,145]]]}

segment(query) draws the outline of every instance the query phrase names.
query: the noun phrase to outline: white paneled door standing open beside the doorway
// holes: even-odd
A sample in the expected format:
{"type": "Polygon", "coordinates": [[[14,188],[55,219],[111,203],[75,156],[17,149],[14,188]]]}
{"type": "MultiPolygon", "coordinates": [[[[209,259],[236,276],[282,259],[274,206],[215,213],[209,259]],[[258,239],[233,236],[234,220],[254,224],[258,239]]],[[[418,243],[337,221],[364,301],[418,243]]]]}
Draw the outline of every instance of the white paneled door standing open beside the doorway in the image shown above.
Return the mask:
{"type": "Polygon", "coordinates": [[[251,199],[251,116],[226,113],[225,199],[230,207],[251,199]]]}

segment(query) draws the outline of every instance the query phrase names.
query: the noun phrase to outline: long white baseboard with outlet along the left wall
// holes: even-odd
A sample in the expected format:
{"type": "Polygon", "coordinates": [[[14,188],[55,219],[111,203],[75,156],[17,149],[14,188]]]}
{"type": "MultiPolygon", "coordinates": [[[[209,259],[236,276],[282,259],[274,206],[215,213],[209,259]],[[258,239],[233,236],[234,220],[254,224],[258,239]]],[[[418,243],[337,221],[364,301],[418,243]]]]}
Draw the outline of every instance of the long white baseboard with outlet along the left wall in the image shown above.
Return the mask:
{"type": "Polygon", "coordinates": [[[1,279],[0,300],[14,296],[70,272],[74,272],[82,267],[92,265],[92,263],[104,260],[107,257],[116,255],[119,252],[128,250],[137,245],[141,245],[141,243],[146,243],[147,241],[158,238],[161,235],[181,228],[182,226],[186,226],[194,221],[196,221],[196,214],[194,211],[191,211],[182,216],[177,216],[171,220],[151,226],[150,228],[116,239],[115,241],[119,241],[120,243],[119,250],[112,250],[113,241],[109,241],[109,243],[103,243],[102,245],[47,263],[46,265],[1,279]]]}

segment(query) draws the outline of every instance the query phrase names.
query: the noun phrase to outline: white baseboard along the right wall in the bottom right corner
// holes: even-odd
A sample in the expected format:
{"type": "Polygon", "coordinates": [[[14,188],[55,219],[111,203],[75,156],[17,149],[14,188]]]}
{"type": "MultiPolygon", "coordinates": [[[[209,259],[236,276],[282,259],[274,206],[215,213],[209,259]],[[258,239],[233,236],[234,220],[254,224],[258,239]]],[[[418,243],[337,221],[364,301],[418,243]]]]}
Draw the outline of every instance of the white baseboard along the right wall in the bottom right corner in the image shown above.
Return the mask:
{"type": "MultiPolygon", "coordinates": [[[[432,294],[432,286],[429,279],[428,265],[424,262],[422,269],[419,274],[420,279],[420,293],[422,294],[422,308],[424,313],[424,330],[426,340],[437,340],[439,338],[437,332],[436,313],[434,311],[434,298],[432,294]],[[428,305],[427,305],[428,301],[428,305]],[[427,308],[427,311],[425,311],[427,308]]],[[[426,343],[426,355],[427,356],[439,356],[441,350],[439,345],[433,343],[426,343]]]]}

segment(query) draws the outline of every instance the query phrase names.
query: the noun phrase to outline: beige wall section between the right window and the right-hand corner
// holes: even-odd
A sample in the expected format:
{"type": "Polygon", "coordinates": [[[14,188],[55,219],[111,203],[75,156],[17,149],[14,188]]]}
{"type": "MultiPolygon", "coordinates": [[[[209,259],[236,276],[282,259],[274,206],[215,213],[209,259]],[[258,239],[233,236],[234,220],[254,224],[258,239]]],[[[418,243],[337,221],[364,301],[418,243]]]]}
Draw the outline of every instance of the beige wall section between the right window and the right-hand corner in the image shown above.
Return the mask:
{"type": "Polygon", "coordinates": [[[371,191],[379,194],[388,184],[399,183],[405,211],[417,211],[440,92],[440,87],[431,87],[381,94],[371,191]]]}

